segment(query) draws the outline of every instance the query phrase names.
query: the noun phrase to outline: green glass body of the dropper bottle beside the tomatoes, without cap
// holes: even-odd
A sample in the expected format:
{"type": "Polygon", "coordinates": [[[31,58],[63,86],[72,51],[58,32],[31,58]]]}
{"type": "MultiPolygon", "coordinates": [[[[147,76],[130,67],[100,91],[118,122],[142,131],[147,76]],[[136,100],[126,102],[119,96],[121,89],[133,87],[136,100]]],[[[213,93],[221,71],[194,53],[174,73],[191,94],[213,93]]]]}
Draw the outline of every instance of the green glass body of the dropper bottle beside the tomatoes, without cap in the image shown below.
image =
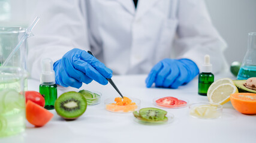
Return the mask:
{"type": "Polygon", "coordinates": [[[44,95],[44,100],[46,101],[44,108],[53,110],[57,99],[57,85],[40,85],[39,92],[41,95],[44,95]]]}

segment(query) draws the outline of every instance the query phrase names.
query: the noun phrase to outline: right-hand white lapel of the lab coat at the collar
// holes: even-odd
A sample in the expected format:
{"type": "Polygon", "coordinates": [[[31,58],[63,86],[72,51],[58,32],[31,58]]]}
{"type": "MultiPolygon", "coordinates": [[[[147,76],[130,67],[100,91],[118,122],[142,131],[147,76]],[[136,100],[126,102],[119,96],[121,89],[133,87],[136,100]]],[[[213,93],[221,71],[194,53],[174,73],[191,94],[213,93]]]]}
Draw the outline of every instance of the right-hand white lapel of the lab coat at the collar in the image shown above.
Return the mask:
{"type": "Polygon", "coordinates": [[[146,13],[148,10],[150,10],[150,8],[153,7],[153,5],[158,1],[161,1],[161,0],[138,0],[135,17],[139,18],[143,16],[143,14],[146,13]]]}

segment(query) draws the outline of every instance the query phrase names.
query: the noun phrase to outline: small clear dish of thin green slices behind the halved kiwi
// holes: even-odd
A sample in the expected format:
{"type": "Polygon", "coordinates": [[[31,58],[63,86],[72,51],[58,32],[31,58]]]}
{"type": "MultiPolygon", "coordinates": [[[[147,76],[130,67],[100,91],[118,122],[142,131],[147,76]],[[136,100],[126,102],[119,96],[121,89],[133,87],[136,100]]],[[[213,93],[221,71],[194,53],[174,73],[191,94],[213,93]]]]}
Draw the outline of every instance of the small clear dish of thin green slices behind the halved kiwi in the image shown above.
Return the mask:
{"type": "Polygon", "coordinates": [[[101,102],[101,92],[81,90],[79,93],[86,98],[88,105],[97,105],[101,102]]]}

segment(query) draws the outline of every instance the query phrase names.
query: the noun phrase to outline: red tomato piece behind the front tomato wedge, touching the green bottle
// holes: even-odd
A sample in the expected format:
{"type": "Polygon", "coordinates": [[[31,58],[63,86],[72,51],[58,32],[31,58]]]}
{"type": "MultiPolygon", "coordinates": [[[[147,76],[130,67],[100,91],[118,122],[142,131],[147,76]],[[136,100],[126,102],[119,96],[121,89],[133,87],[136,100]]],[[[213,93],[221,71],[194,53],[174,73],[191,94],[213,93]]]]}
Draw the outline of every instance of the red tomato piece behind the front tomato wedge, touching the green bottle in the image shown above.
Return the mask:
{"type": "Polygon", "coordinates": [[[46,101],[44,101],[44,97],[37,91],[26,91],[25,92],[26,102],[29,100],[34,102],[35,104],[44,107],[46,101]]]}

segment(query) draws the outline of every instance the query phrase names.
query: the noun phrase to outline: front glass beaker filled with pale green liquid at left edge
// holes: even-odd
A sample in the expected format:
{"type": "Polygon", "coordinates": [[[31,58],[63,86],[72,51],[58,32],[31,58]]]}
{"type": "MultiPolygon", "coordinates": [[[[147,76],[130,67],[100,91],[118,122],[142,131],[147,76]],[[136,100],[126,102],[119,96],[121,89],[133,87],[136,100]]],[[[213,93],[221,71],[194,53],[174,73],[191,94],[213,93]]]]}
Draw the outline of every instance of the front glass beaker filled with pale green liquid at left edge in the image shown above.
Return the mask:
{"type": "Polygon", "coordinates": [[[19,67],[0,67],[0,137],[25,130],[25,77],[19,67]]]}

